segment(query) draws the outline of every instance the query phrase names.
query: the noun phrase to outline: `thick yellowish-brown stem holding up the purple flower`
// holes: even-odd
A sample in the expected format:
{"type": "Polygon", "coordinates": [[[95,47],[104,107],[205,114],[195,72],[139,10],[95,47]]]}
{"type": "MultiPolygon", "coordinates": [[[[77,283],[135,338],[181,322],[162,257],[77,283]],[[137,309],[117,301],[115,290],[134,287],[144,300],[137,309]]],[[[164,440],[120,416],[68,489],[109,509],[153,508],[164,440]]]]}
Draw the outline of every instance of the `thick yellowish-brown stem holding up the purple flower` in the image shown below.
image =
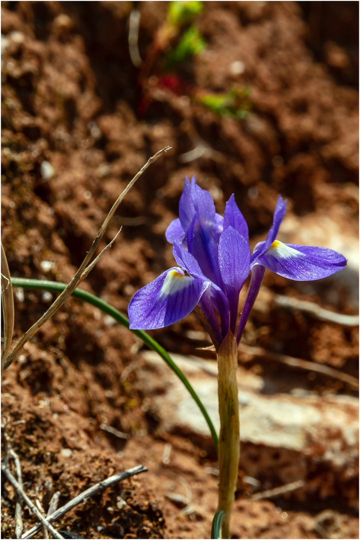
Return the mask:
{"type": "Polygon", "coordinates": [[[229,331],[218,350],[218,393],[220,413],[219,504],[224,510],[224,537],[230,538],[230,517],[235,498],[240,457],[240,422],[236,370],[237,341],[229,331]]]}

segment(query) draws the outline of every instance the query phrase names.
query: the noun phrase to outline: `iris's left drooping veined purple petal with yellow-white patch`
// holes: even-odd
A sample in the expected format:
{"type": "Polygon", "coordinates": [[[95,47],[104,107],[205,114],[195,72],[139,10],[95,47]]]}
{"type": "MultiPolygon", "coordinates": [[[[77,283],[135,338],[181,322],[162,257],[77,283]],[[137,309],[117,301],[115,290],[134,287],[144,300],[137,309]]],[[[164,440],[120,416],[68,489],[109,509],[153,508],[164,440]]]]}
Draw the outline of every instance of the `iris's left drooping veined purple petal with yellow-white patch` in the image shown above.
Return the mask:
{"type": "Polygon", "coordinates": [[[181,268],[170,268],[134,294],[128,307],[129,328],[151,330],[183,319],[209,285],[185,275],[181,268]]]}

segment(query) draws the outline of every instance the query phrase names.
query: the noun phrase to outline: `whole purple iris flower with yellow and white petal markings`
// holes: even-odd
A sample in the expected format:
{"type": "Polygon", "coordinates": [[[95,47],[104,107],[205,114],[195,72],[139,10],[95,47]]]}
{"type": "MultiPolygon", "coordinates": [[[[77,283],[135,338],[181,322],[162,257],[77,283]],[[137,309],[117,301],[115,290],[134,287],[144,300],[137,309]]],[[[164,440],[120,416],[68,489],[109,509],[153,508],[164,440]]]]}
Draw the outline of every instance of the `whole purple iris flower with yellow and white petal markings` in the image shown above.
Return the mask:
{"type": "Polygon", "coordinates": [[[276,240],[286,213],[279,195],[267,238],[250,254],[248,227],[231,195],[224,217],[217,214],[209,192],[193,177],[185,179],[179,218],[165,236],[173,245],[176,264],[135,293],[129,303],[131,329],[163,328],[183,319],[193,309],[216,349],[229,332],[241,335],[258,295],[265,268],[297,281],[311,281],[338,272],[346,259],[332,249],[283,244],[276,240]],[[251,281],[238,321],[239,293],[251,281]]]}

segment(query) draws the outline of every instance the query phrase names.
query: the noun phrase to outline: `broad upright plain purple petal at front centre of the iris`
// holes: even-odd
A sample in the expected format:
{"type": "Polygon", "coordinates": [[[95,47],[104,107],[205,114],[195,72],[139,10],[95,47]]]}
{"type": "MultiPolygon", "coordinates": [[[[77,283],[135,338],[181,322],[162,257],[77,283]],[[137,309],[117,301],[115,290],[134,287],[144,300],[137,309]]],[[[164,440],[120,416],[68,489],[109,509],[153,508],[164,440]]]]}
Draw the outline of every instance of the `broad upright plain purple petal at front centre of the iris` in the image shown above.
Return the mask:
{"type": "Polygon", "coordinates": [[[239,293],[250,273],[250,247],[248,240],[230,226],[220,236],[219,267],[230,305],[230,328],[235,333],[239,293]]]}

